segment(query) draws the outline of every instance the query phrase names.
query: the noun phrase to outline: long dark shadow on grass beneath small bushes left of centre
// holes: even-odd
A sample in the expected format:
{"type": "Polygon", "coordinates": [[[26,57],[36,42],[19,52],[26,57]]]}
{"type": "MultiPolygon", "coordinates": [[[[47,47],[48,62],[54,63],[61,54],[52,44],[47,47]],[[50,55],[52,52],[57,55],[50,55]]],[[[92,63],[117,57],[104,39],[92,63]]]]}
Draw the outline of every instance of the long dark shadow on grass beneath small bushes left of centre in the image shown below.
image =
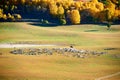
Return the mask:
{"type": "Polygon", "coordinates": [[[34,22],[34,23],[28,23],[29,25],[33,25],[33,26],[38,26],[38,27],[57,27],[59,26],[58,24],[55,23],[47,23],[47,24],[43,24],[40,22],[34,22]]]}

